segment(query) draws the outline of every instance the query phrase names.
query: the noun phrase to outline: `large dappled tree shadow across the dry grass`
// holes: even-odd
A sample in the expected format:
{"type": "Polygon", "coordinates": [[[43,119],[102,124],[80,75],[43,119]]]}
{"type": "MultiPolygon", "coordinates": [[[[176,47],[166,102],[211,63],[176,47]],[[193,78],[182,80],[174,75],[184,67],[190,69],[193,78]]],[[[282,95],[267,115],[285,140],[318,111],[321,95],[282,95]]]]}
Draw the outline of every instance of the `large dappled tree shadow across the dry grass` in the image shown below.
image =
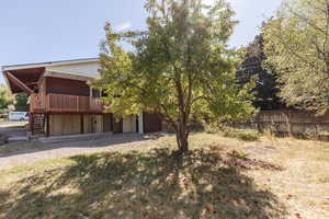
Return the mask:
{"type": "Polygon", "coordinates": [[[9,188],[15,200],[0,203],[4,218],[286,218],[275,195],[217,151],[195,150],[180,160],[168,149],[70,159],[75,164],[9,188]]]}

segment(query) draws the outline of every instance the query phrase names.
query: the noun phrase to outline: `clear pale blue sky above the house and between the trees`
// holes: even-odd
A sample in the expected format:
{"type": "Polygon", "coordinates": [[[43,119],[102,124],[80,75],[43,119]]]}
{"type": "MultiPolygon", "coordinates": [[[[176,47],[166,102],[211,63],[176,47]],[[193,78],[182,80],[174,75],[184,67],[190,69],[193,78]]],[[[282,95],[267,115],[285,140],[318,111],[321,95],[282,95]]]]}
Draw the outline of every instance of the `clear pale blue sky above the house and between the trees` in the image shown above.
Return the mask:
{"type": "MultiPolygon", "coordinates": [[[[281,3],[229,1],[240,21],[231,46],[250,43],[281,3]]],[[[2,0],[0,9],[0,66],[97,57],[105,21],[117,30],[138,30],[146,18],[144,0],[2,0]]]]}

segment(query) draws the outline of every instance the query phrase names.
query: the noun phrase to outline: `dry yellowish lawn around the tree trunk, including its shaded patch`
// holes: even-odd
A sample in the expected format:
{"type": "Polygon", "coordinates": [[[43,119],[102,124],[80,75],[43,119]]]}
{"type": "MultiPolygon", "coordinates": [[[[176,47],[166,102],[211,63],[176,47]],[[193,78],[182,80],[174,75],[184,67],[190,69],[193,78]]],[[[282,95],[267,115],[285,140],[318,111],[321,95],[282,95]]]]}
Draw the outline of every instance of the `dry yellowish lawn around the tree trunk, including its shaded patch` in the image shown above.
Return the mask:
{"type": "Polygon", "coordinates": [[[194,134],[0,172],[0,218],[329,218],[329,143],[194,134]]]}

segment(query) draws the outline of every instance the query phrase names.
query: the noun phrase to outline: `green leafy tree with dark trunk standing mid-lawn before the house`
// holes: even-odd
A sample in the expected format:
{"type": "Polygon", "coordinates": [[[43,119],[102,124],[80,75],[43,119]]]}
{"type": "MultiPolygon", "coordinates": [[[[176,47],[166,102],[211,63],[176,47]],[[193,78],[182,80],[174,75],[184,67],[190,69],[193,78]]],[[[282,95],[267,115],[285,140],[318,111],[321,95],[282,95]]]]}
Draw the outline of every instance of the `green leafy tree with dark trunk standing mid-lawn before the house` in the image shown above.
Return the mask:
{"type": "Polygon", "coordinates": [[[192,119],[232,119],[251,113],[248,91],[238,90],[238,56],[227,48],[237,23],[224,0],[148,0],[147,31],[115,33],[106,24],[101,79],[107,111],[118,116],[158,113],[189,150],[192,119]],[[133,45],[125,51],[118,42],[133,45]]]}

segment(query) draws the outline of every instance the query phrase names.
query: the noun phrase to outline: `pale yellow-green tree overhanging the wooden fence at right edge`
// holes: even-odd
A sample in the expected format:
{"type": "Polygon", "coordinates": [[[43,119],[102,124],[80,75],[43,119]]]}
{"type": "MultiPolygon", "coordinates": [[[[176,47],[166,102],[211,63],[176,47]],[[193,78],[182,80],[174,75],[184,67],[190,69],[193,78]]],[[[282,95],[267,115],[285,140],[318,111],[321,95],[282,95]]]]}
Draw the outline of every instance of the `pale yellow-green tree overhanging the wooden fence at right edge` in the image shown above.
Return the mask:
{"type": "Polygon", "coordinates": [[[294,107],[329,106],[329,0],[285,0],[263,28],[281,97],[294,107]]]}

